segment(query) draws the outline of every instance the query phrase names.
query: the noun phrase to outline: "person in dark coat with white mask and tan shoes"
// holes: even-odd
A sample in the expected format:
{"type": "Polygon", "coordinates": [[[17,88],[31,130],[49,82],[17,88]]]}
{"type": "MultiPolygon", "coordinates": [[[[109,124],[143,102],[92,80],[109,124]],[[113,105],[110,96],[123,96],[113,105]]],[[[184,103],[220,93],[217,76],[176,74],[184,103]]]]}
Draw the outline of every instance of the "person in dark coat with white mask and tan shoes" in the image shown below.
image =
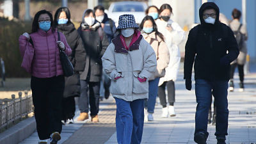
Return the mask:
{"type": "Polygon", "coordinates": [[[99,122],[99,90],[100,79],[102,74],[102,61],[106,48],[109,45],[108,37],[101,28],[101,25],[95,20],[93,10],[88,9],[83,13],[83,22],[78,28],[78,32],[83,40],[84,49],[86,50],[84,70],[80,72],[81,95],[79,97],[80,116],[78,121],[88,119],[90,103],[90,115],[92,122],[99,122]],[[88,102],[88,90],[90,102],[88,102]]]}

